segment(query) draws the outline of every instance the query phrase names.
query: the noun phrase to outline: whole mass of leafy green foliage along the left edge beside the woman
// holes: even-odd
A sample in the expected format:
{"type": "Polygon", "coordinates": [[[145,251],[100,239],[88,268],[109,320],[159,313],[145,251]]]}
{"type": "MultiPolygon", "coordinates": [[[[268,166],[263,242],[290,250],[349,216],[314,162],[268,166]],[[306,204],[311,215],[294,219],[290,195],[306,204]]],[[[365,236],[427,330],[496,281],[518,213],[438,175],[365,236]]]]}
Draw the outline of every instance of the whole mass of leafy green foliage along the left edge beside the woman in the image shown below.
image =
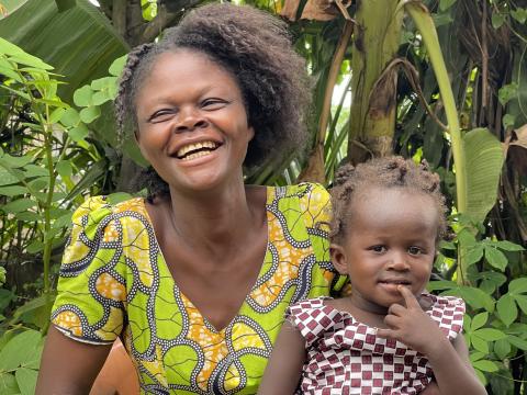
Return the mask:
{"type": "MultiPolygon", "coordinates": [[[[24,298],[0,289],[0,393],[33,394],[36,383],[42,332],[49,325],[55,298],[52,290],[53,250],[60,248],[71,224],[71,213],[87,192],[99,193],[99,180],[108,173],[108,162],[89,142],[89,124],[100,114],[100,105],[115,95],[116,76],[123,58],[115,60],[112,77],[94,80],[75,93],[82,110],[70,106],[57,95],[60,81],[52,66],[0,38],[0,88],[9,103],[2,114],[7,125],[20,138],[0,148],[0,207],[2,255],[11,262],[14,251],[23,250],[42,262],[40,295],[24,298]],[[21,121],[23,120],[23,122],[21,121]],[[3,148],[3,149],[2,149],[3,148]],[[4,149],[9,149],[10,154],[4,149]],[[22,232],[20,232],[22,229],[22,232]],[[12,328],[12,329],[10,329],[12,328]]],[[[130,198],[116,194],[112,199],[130,198]]],[[[56,263],[56,262],[55,262],[56,263]]],[[[0,285],[5,282],[0,266],[0,285]]]]}

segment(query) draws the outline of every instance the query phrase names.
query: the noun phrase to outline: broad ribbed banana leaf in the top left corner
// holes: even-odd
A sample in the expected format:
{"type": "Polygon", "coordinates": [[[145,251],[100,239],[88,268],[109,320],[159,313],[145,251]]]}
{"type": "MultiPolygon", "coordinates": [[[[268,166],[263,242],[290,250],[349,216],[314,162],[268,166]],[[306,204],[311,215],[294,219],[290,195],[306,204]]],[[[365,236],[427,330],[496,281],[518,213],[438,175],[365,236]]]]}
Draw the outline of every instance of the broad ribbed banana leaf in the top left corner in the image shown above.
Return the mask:
{"type": "Polygon", "coordinates": [[[127,52],[110,21],[88,0],[61,11],[55,0],[26,0],[0,20],[0,37],[40,57],[65,76],[59,95],[71,103],[74,91],[108,75],[127,52]]]}

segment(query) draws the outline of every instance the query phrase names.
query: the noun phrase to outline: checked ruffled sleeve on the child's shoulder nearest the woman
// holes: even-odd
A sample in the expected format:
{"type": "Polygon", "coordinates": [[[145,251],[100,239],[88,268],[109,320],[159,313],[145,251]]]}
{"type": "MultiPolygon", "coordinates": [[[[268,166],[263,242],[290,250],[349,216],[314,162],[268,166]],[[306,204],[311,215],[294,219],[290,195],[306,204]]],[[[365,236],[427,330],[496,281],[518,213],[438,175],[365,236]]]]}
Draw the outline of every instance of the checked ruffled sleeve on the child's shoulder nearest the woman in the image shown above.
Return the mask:
{"type": "Polygon", "coordinates": [[[285,311],[285,319],[299,329],[309,349],[324,334],[336,325],[341,326],[343,315],[335,308],[324,305],[325,297],[306,300],[291,305],[285,311]]]}

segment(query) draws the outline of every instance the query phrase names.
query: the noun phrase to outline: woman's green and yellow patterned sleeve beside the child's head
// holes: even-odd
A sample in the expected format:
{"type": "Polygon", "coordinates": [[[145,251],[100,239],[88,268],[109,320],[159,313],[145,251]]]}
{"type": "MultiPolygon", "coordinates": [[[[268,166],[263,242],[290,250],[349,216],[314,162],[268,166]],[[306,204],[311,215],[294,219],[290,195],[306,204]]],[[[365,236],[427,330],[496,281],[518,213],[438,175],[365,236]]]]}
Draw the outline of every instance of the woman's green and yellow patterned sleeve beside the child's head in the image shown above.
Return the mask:
{"type": "Polygon", "coordinates": [[[333,213],[329,192],[318,183],[301,183],[299,188],[305,188],[305,194],[300,199],[300,206],[315,259],[321,267],[327,269],[327,275],[332,276],[332,295],[339,294],[348,278],[339,274],[330,261],[329,224],[333,213]]]}

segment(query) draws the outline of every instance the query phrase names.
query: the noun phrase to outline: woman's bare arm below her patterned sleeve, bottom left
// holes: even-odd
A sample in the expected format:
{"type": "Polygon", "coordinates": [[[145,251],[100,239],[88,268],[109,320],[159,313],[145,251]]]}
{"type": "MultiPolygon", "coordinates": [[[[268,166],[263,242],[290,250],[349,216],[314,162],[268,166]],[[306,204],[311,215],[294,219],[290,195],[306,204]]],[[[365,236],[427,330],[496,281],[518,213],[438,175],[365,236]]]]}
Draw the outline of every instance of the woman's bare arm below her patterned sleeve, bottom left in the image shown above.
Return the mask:
{"type": "Polygon", "coordinates": [[[72,340],[52,325],[35,394],[89,394],[111,348],[111,345],[96,346],[72,340]]]}

